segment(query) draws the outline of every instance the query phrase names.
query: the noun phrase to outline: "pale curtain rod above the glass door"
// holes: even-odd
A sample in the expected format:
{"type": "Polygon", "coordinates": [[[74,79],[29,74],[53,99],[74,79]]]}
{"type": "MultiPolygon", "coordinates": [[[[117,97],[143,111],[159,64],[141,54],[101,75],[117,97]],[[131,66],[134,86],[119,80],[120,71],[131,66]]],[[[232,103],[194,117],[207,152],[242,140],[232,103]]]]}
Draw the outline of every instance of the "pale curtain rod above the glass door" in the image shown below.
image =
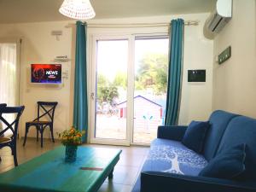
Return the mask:
{"type": "MultiPolygon", "coordinates": [[[[185,26],[198,26],[199,20],[185,20],[184,21],[185,26]]],[[[93,28],[101,28],[101,27],[153,27],[153,26],[170,26],[170,23],[128,23],[128,24],[96,24],[96,23],[87,23],[88,27],[93,28]]]]}

